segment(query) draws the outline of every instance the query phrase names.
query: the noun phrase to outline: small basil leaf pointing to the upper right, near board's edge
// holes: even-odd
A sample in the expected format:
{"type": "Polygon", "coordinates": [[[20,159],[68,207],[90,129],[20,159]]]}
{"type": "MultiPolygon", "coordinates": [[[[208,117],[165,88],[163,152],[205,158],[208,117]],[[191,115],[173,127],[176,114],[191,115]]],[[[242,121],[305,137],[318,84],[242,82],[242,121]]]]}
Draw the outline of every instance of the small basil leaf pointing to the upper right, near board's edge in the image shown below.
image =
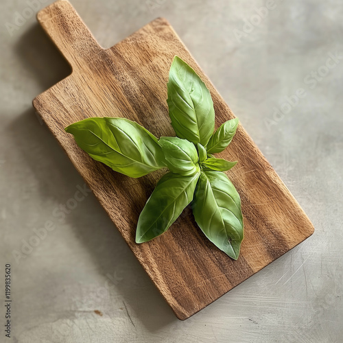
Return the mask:
{"type": "Polygon", "coordinates": [[[216,152],[222,152],[233,140],[238,123],[238,118],[223,123],[209,140],[209,144],[206,147],[207,153],[215,154],[216,152]]]}

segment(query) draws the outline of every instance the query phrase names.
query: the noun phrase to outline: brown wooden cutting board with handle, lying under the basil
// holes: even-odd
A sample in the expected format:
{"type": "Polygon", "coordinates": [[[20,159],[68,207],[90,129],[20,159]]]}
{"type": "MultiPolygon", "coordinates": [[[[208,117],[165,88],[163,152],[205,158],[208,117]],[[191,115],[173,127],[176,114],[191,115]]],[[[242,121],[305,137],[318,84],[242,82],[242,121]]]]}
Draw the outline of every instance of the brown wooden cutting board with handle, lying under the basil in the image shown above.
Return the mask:
{"type": "Polygon", "coordinates": [[[239,259],[233,261],[206,239],[189,207],[166,233],[136,244],[139,213],[163,171],[136,179],[118,174],[83,152],[64,127],[88,117],[126,117],[156,137],[175,136],[166,102],[174,55],[189,63],[211,91],[215,128],[234,115],[165,19],[152,21],[110,49],[97,44],[68,1],[49,5],[37,19],[73,71],[38,95],[34,107],[179,319],[200,311],[314,232],[292,194],[239,126],[228,149],[218,154],[239,161],[227,173],[244,213],[239,259]]]}

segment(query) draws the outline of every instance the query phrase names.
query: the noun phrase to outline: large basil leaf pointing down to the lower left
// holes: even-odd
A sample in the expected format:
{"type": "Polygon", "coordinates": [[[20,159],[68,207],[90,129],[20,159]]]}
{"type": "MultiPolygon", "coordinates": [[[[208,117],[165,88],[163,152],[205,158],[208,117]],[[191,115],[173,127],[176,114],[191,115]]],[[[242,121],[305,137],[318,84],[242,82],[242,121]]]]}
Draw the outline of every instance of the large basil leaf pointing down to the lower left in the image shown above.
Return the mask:
{"type": "Polygon", "coordinates": [[[169,172],[158,181],[137,224],[136,243],[164,233],[193,199],[199,173],[182,176],[169,172]]]}

